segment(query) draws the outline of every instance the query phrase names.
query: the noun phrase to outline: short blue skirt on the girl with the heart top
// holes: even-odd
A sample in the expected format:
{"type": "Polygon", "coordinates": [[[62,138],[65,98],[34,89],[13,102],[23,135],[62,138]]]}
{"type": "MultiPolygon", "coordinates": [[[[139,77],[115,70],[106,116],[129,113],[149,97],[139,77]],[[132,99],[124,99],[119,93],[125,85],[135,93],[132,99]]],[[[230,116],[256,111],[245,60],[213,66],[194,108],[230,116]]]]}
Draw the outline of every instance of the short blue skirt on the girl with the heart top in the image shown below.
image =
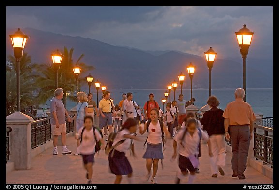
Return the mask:
{"type": "Polygon", "coordinates": [[[163,159],[163,143],[149,144],[147,143],[146,152],[142,158],[163,159]]]}

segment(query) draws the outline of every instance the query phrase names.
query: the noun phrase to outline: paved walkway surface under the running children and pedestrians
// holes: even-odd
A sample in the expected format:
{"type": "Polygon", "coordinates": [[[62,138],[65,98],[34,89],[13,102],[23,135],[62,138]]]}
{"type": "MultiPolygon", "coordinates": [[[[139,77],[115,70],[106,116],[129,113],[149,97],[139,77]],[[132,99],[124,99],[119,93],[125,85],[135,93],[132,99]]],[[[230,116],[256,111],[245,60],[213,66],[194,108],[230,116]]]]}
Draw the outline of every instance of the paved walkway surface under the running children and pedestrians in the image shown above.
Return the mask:
{"type": "MultiPolygon", "coordinates": [[[[151,181],[143,182],[142,176],[146,174],[146,160],[142,158],[145,152],[143,143],[146,139],[146,133],[138,136],[142,138],[142,142],[135,142],[137,158],[127,154],[127,157],[133,168],[134,183],[151,183],[151,181]]],[[[173,148],[172,139],[168,139],[165,144],[163,165],[159,165],[157,172],[158,183],[174,183],[176,171],[178,170],[177,161],[170,161],[173,148]]],[[[77,148],[74,136],[67,138],[67,147],[72,151],[71,155],[62,155],[62,146],[58,147],[59,155],[52,155],[52,148],[47,149],[43,153],[32,159],[30,170],[14,170],[7,173],[6,183],[8,184],[84,184],[87,183],[85,178],[85,170],[82,166],[81,156],[74,156],[73,153],[77,148]]],[[[197,174],[194,183],[196,184],[272,184],[273,181],[259,173],[252,167],[247,167],[245,171],[246,179],[239,180],[232,177],[231,169],[232,152],[230,146],[227,147],[226,166],[224,168],[225,176],[218,175],[217,178],[211,177],[208,148],[206,144],[202,144],[202,157],[200,157],[200,174],[197,174]]],[[[114,182],[115,175],[109,171],[108,156],[101,151],[95,155],[95,163],[93,165],[92,182],[94,184],[111,184],[114,182]]],[[[181,183],[187,183],[186,177],[181,183]]],[[[128,183],[126,176],[123,176],[122,183],[128,183]]]]}

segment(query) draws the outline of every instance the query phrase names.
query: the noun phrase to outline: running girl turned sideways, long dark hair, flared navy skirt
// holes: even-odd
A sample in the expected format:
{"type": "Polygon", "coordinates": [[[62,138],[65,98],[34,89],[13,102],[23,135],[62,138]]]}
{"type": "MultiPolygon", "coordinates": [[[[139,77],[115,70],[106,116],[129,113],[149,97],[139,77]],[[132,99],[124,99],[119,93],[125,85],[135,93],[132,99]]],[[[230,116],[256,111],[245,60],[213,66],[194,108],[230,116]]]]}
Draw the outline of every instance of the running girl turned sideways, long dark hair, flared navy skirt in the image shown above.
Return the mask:
{"type": "Polygon", "coordinates": [[[121,183],[122,175],[127,175],[128,182],[133,183],[133,170],[125,154],[131,149],[132,155],[136,157],[132,140],[140,140],[134,135],[138,125],[139,122],[136,119],[128,118],[114,139],[109,152],[109,168],[111,173],[116,175],[114,183],[121,183]]]}

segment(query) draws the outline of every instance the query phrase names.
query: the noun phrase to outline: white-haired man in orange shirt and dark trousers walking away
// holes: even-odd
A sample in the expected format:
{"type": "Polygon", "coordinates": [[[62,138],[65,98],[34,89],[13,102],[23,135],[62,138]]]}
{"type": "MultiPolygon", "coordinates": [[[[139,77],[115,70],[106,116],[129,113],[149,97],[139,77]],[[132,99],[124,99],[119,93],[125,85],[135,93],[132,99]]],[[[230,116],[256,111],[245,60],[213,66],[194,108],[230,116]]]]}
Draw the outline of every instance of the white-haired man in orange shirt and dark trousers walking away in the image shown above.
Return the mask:
{"type": "Polygon", "coordinates": [[[255,114],[250,104],[243,101],[245,91],[237,88],[234,92],[235,101],[227,104],[223,113],[225,125],[225,137],[231,140],[233,157],[231,159],[233,177],[245,179],[243,174],[246,169],[246,161],[253,137],[255,114]]]}

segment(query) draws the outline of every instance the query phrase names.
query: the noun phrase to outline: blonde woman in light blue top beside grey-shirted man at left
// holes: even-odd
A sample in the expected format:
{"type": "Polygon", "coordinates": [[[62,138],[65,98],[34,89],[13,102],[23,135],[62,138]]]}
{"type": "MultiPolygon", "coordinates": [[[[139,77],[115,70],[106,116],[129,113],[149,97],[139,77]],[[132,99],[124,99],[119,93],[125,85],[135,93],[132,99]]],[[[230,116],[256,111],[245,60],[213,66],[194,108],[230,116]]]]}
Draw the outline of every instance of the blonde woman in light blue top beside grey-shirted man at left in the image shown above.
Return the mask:
{"type": "MultiPolygon", "coordinates": [[[[76,119],[76,132],[78,133],[79,129],[83,127],[84,117],[88,114],[88,103],[87,95],[85,92],[78,92],[78,106],[77,106],[77,115],[73,119],[76,119]]],[[[78,146],[80,145],[80,140],[77,139],[78,146]]],[[[74,155],[80,155],[79,149],[74,155]]]]}

